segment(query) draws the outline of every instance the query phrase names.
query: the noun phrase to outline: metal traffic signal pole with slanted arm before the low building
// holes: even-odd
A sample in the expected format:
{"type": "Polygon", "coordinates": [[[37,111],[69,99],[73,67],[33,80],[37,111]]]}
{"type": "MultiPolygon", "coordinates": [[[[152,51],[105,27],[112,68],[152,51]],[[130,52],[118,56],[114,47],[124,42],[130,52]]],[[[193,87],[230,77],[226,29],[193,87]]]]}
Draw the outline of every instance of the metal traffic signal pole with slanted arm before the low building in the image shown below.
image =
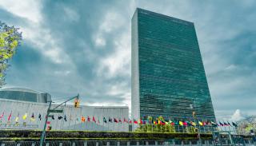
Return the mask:
{"type": "Polygon", "coordinates": [[[49,104],[49,107],[48,107],[47,113],[46,113],[46,121],[45,121],[45,124],[44,124],[43,129],[42,129],[42,136],[41,136],[41,139],[40,139],[40,146],[43,146],[43,142],[46,139],[46,125],[47,125],[48,116],[49,116],[50,112],[63,112],[63,110],[60,110],[60,109],[57,109],[57,108],[59,106],[63,105],[63,104],[66,104],[67,101],[73,100],[74,98],[79,99],[79,94],[77,96],[75,96],[75,97],[71,97],[70,99],[62,102],[60,105],[56,106],[54,109],[50,109],[52,101],[51,100],[49,101],[50,104],[49,104]]]}

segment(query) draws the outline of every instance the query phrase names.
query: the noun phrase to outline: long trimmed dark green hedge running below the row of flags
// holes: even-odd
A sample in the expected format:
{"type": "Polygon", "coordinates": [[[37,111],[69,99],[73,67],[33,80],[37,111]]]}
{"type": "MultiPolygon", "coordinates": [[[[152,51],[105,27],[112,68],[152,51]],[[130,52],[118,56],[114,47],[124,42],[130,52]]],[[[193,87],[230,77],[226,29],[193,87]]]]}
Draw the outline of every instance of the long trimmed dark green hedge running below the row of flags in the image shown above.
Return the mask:
{"type": "MultiPolygon", "coordinates": [[[[0,130],[1,140],[38,140],[42,131],[0,130]]],[[[202,139],[210,139],[210,134],[202,134],[202,139]]],[[[87,132],[87,131],[50,131],[46,140],[197,140],[197,133],[166,132],[87,132]]]]}

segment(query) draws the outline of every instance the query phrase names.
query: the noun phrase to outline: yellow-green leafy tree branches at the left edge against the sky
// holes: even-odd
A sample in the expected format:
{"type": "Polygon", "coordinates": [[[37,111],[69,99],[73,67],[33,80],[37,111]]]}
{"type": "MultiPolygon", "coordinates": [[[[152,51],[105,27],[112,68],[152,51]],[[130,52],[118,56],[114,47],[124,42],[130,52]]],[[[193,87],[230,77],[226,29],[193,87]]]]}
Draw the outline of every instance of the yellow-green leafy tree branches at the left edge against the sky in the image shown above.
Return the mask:
{"type": "Polygon", "coordinates": [[[8,61],[22,41],[22,32],[18,30],[0,21],[0,88],[6,84],[6,69],[10,66],[8,61]]]}

